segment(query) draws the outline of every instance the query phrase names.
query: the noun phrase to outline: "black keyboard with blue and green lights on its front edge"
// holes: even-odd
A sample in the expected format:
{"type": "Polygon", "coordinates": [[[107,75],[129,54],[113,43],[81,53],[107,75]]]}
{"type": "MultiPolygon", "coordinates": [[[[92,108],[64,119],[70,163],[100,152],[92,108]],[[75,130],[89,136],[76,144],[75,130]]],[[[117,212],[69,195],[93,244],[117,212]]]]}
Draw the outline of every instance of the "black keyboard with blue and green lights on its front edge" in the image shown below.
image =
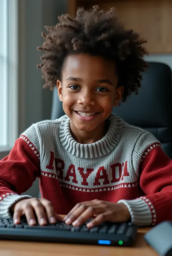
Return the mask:
{"type": "Polygon", "coordinates": [[[118,246],[132,246],[136,240],[135,224],[104,222],[89,229],[89,221],[79,227],[64,222],[29,226],[25,218],[18,225],[13,224],[12,218],[0,218],[0,239],[118,246]]]}

